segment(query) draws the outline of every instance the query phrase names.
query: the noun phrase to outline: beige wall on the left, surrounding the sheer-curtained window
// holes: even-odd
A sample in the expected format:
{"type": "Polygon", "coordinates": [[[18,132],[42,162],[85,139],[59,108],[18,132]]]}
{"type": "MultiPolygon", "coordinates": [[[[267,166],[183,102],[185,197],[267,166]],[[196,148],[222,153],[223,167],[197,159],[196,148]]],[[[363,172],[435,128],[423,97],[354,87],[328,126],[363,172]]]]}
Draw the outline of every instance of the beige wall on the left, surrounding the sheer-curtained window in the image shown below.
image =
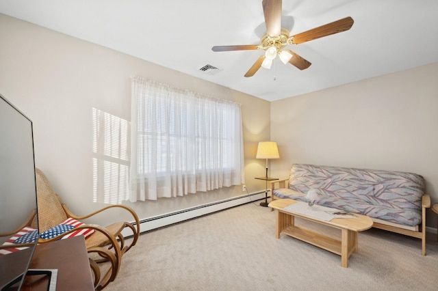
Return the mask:
{"type": "MultiPolygon", "coordinates": [[[[242,104],[246,184],[264,189],[254,180],[264,162],[254,157],[270,137],[270,102],[3,14],[0,43],[0,92],[34,122],[36,166],[73,212],[105,206],[92,202],[92,109],[129,120],[132,75],[242,104]]],[[[144,219],[242,194],[236,186],[130,205],[144,219]]]]}

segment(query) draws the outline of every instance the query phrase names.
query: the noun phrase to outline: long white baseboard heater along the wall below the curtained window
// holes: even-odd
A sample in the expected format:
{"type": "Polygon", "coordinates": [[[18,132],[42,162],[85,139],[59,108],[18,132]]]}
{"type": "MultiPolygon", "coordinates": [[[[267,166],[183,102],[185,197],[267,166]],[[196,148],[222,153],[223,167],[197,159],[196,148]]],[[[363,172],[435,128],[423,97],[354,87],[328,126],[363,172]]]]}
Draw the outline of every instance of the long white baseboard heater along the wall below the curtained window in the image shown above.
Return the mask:
{"type": "MultiPolygon", "coordinates": [[[[147,219],[140,220],[140,232],[149,232],[151,230],[156,230],[160,227],[165,227],[189,219],[194,219],[196,217],[201,217],[206,214],[211,214],[214,212],[225,210],[227,208],[240,206],[242,204],[255,202],[261,199],[265,199],[265,191],[240,195],[229,199],[223,199],[217,202],[212,202],[209,204],[203,204],[192,208],[186,208],[175,212],[157,215],[155,217],[149,217],[147,219]]],[[[125,230],[124,232],[122,232],[123,236],[129,236],[129,230],[125,230]],[[126,232],[126,234],[124,232],[126,232]]]]}

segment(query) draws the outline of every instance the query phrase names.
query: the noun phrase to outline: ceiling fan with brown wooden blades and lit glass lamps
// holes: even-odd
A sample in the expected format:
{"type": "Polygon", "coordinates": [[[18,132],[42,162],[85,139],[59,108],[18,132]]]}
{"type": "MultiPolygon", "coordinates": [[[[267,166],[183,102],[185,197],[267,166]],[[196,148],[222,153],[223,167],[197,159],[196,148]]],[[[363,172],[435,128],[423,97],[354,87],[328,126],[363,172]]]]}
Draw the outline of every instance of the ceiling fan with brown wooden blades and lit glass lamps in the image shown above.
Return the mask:
{"type": "Polygon", "coordinates": [[[302,44],[324,36],[339,33],[350,29],[354,23],[351,17],[342,18],[308,31],[289,36],[289,30],[281,27],[281,0],[263,0],[263,14],[265,15],[266,33],[261,37],[260,44],[213,46],[212,51],[250,51],[262,49],[265,54],[259,57],[255,64],[246,72],[245,77],[253,77],[260,67],[271,68],[272,61],[279,55],[283,64],[292,64],[300,70],[309,68],[311,63],[293,51],[286,48],[288,45],[302,44]]]}

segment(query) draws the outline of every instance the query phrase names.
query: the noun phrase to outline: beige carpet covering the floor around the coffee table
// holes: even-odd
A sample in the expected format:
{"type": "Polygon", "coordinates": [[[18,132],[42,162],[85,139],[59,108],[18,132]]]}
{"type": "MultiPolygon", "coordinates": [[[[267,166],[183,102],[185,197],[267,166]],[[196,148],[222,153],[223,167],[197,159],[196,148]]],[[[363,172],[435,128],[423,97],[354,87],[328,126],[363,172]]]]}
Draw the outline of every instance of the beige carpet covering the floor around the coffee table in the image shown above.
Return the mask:
{"type": "MultiPolygon", "coordinates": [[[[383,230],[359,233],[359,253],[341,257],[274,237],[275,214],[245,204],[142,234],[105,290],[438,290],[438,243],[383,230]]],[[[340,231],[296,219],[340,239],[340,231]]]]}

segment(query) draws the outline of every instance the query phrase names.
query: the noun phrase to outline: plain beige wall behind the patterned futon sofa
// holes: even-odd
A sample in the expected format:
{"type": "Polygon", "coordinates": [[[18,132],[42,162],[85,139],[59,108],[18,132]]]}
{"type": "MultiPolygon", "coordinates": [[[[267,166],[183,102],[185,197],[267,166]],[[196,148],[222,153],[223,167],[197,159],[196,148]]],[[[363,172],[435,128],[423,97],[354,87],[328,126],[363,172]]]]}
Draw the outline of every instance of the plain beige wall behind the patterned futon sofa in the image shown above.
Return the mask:
{"type": "Polygon", "coordinates": [[[287,177],[292,163],[410,171],[438,202],[437,76],[430,64],[272,102],[272,175],[287,177]]]}

